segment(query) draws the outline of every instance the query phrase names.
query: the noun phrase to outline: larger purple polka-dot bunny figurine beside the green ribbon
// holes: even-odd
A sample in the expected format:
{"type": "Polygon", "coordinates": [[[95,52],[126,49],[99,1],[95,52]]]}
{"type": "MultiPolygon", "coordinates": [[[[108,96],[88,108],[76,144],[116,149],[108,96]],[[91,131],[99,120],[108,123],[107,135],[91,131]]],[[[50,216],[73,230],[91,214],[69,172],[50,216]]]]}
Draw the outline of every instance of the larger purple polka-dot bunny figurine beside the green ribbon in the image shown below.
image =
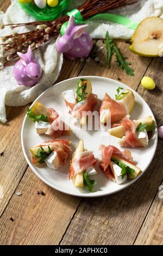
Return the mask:
{"type": "Polygon", "coordinates": [[[76,25],[74,17],[71,16],[65,35],[57,40],[58,52],[64,53],[67,59],[87,57],[93,47],[90,35],[84,32],[88,25],[76,25]]]}

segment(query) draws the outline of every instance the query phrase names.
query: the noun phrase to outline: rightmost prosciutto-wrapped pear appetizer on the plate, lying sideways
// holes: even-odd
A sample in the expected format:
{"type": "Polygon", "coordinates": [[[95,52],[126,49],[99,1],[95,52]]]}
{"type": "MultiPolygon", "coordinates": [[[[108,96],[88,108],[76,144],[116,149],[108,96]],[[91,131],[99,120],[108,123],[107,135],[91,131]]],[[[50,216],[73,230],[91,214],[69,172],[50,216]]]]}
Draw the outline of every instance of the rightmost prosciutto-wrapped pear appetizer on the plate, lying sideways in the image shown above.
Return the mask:
{"type": "Polygon", "coordinates": [[[126,148],[147,147],[155,129],[152,117],[130,120],[124,117],[120,124],[114,124],[108,132],[120,139],[120,146],[126,148]]]}

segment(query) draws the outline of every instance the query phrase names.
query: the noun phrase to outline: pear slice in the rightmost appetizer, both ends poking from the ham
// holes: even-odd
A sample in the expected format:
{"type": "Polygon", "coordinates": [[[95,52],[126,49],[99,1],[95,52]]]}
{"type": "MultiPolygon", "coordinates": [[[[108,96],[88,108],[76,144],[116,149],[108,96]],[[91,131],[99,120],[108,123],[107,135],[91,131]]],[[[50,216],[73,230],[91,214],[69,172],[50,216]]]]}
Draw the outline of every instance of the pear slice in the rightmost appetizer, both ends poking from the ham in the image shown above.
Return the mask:
{"type": "MultiPolygon", "coordinates": [[[[145,124],[153,125],[154,121],[152,117],[146,117],[146,118],[136,120],[136,123],[137,123],[137,126],[140,123],[142,123],[142,125],[145,125],[145,124]]],[[[115,136],[117,138],[122,138],[123,136],[125,136],[125,130],[123,125],[111,128],[108,130],[108,132],[110,133],[110,135],[115,136]]]]}

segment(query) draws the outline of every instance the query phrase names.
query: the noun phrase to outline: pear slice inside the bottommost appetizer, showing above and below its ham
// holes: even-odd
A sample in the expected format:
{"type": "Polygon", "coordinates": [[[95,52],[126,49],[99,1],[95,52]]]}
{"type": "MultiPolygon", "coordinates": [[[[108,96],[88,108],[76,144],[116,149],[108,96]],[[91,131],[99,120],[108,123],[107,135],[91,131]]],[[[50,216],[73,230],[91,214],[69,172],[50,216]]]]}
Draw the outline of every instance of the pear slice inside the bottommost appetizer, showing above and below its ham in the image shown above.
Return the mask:
{"type": "MultiPolygon", "coordinates": [[[[82,153],[83,151],[85,151],[85,149],[84,149],[84,142],[81,139],[79,141],[78,145],[77,145],[76,151],[74,151],[72,162],[73,162],[73,159],[75,159],[77,157],[77,155],[79,153],[82,153]]],[[[83,172],[80,172],[77,175],[73,176],[72,177],[72,181],[73,181],[74,186],[76,186],[76,187],[84,187],[83,172]]]]}

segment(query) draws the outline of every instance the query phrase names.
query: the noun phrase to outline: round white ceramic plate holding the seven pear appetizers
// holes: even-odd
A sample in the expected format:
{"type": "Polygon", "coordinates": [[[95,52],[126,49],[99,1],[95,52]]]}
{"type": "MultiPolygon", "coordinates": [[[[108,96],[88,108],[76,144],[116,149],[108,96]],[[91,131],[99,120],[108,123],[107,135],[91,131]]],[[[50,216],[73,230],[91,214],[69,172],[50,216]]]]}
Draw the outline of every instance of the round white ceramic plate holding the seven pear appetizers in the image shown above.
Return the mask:
{"type": "MultiPolygon", "coordinates": [[[[62,100],[62,92],[64,90],[76,88],[77,81],[80,78],[82,77],[74,77],[66,81],[62,81],[58,84],[55,84],[55,86],[49,88],[48,90],[46,90],[46,92],[42,93],[39,97],[37,97],[34,103],[36,101],[40,101],[43,105],[56,109],[57,112],[63,111],[63,109],[65,108],[65,103],[62,100]]],[[[93,93],[98,95],[99,104],[103,99],[105,92],[108,92],[109,95],[112,98],[114,98],[116,89],[118,87],[123,87],[124,89],[132,90],[125,84],[122,84],[115,80],[111,80],[109,78],[98,76],[86,76],[86,78],[89,78],[91,80],[93,93]]],[[[135,107],[130,117],[132,119],[138,119],[148,117],[149,115],[151,115],[155,120],[154,115],[149,106],[147,105],[147,103],[145,102],[145,100],[143,100],[142,97],[139,94],[137,94],[134,90],[133,92],[135,95],[135,107]]],[[[67,138],[73,142],[73,151],[76,145],[78,144],[79,139],[83,139],[85,148],[87,150],[93,150],[98,160],[100,160],[98,151],[99,144],[112,144],[115,145],[115,147],[122,150],[122,148],[120,148],[120,146],[118,145],[118,138],[110,136],[108,133],[106,135],[105,132],[100,131],[74,131],[71,136],[62,136],[61,138],[67,138]]],[[[145,170],[147,169],[147,167],[149,166],[154,157],[157,145],[157,138],[158,134],[156,131],[152,139],[150,139],[147,148],[136,148],[130,150],[137,166],[141,168],[142,174],[145,172],[145,170]]],[[[29,148],[32,148],[34,145],[48,140],[49,137],[47,136],[37,135],[35,131],[35,124],[27,117],[24,118],[21,141],[23,153],[26,157],[26,160],[30,168],[32,168],[34,173],[47,185],[66,194],[71,194],[73,196],[79,197],[106,196],[108,194],[112,194],[120,190],[123,190],[124,188],[133,184],[133,182],[139,179],[140,176],[142,175],[140,174],[136,179],[129,180],[125,184],[117,185],[115,182],[109,181],[108,178],[106,178],[106,176],[98,169],[97,163],[98,174],[92,176],[92,178],[97,181],[97,185],[95,186],[95,192],[91,193],[87,190],[83,190],[82,188],[76,188],[73,186],[72,181],[68,179],[70,164],[69,161],[67,162],[66,166],[60,168],[59,170],[53,170],[46,166],[38,168],[32,164],[30,160],[29,148]]]]}

